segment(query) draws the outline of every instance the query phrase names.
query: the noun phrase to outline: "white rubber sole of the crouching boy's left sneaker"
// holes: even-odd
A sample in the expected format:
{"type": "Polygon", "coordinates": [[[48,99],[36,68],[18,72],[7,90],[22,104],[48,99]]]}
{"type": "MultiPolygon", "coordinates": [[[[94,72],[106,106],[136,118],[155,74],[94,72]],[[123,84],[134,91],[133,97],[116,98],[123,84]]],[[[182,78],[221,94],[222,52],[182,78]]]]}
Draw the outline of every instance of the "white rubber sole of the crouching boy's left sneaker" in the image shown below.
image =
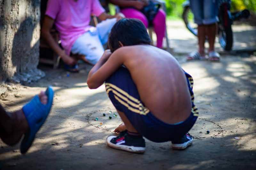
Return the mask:
{"type": "Polygon", "coordinates": [[[119,149],[119,150],[123,150],[123,151],[128,151],[128,152],[132,152],[132,153],[144,153],[145,152],[144,147],[125,146],[125,145],[122,145],[122,144],[112,144],[110,141],[114,137],[116,137],[116,136],[107,137],[107,144],[111,148],[119,149]]]}

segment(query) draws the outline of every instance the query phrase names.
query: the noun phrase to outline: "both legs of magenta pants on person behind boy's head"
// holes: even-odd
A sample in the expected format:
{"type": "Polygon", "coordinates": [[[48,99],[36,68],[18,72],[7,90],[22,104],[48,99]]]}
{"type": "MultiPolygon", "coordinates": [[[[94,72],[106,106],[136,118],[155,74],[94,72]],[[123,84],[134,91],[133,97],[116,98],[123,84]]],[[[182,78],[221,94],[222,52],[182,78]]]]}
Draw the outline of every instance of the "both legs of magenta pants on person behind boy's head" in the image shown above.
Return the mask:
{"type": "MultiPolygon", "coordinates": [[[[133,8],[125,8],[122,9],[121,12],[124,14],[126,18],[140,19],[140,21],[142,21],[143,24],[148,28],[148,19],[140,11],[133,8]]],[[[165,12],[160,9],[153,20],[154,31],[156,33],[157,38],[156,46],[158,48],[163,47],[163,38],[165,34],[165,17],[165,12]]]]}

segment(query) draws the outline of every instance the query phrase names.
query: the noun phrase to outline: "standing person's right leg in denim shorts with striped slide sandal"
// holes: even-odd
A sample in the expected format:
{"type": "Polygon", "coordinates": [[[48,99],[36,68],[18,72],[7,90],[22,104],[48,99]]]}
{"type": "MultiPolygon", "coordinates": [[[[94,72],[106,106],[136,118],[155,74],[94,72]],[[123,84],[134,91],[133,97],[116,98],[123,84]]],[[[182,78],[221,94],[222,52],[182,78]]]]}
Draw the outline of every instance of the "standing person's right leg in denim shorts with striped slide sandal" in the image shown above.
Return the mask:
{"type": "Polygon", "coordinates": [[[218,21],[218,1],[204,0],[204,19],[203,23],[206,25],[206,35],[209,42],[209,60],[219,61],[220,55],[214,50],[215,37],[217,33],[218,21]]]}

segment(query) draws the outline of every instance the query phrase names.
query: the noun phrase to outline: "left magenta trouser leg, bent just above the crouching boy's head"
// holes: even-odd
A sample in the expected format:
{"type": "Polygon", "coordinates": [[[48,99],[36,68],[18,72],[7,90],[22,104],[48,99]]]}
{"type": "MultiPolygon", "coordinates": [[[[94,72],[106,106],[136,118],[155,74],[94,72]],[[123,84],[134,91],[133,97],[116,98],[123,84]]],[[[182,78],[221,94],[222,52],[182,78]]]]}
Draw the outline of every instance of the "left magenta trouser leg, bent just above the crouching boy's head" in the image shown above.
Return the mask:
{"type": "Polygon", "coordinates": [[[148,28],[148,19],[142,12],[133,8],[125,8],[122,9],[121,12],[124,14],[126,18],[139,19],[141,22],[143,22],[145,27],[148,28]]]}

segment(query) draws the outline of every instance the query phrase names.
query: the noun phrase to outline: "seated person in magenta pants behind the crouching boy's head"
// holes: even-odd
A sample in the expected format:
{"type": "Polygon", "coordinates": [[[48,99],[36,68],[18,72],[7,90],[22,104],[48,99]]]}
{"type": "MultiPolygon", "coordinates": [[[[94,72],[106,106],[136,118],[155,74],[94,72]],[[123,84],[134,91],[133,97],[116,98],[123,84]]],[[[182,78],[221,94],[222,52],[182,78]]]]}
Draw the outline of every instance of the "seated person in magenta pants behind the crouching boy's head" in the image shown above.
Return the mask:
{"type": "MultiPolygon", "coordinates": [[[[148,28],[149,23],[147,17],[140,10],[147,5],[147,2],[139,0],[109,0],[110,3],[118,5],[121,12],[126,18],[140,19],[148,28]]],[[[162,9],[157,12],[152,24],[156,33],[156,47],[163,48],[163,39],[165,35],[165,17],[166,14],[162,9]]]]}

